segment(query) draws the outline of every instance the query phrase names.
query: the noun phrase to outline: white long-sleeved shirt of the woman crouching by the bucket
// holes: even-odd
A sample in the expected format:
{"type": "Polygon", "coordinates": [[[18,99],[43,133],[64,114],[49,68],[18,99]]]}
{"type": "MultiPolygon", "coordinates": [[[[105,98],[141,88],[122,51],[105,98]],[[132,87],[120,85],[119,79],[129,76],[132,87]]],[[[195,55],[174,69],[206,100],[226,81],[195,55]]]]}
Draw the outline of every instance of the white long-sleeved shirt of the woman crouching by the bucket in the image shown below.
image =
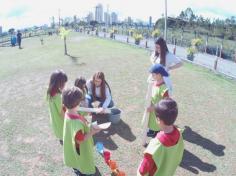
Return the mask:
{"type": "MultiPolygon", "coordinates": [[[[92,90],[92,82],[91,80],[88,81],[86,83],[87,85],[87,88],[88,88],[88,94],[89,95],[92,95],[93,94],[93,90],[92,90]]],[[[95,94],[96,94],[96,97],[98,98],[101,98],[101,87],[95,87],[95,94]]],[[[111,102],[111,93],[110,93],[110,90],[108,88],[107,85],[105,85],[105,95],[106,95],[106,99],[102,105],[103,108],[107,108],[111,102]]]]}

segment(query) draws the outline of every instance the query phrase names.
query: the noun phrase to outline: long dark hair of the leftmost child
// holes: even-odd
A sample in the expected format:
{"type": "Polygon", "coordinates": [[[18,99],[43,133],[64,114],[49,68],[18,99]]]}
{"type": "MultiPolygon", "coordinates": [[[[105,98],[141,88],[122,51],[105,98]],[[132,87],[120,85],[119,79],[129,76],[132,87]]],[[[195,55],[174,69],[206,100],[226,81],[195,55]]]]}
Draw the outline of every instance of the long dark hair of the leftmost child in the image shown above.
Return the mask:
{"type": "Polygon", "coordinates": [[[67,82],[67,75],[63,70],[55,70],[50,77],[47,95],[51,97],[52,93],[61,93],[60,88],[67,82]]]}

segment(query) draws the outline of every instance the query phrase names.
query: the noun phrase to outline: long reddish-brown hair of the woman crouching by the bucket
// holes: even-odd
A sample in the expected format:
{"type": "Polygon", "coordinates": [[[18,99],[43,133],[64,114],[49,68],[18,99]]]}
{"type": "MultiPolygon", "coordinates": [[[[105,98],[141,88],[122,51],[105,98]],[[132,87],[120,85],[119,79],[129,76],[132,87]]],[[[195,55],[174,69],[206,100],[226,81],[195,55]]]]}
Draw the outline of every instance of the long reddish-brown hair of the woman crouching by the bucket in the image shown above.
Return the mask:
{"type": "Polygon", "coordinates": [[[101,89],[100,89],[100,93],[101,93],[101,99],[102,101],[104,101],[106,99],[106,85],[109,88],[109,91],[111,92],[110,86],[108,85],[108,83],[105,80],[105,75],[103,72],[97,72],[93,75],[93,80],[92,80],[92,94],[93,94],[93,99],[96,100],[96,86],[94,84],[95,79],[101,79],[102,83],[101,83],[101,89]]]}

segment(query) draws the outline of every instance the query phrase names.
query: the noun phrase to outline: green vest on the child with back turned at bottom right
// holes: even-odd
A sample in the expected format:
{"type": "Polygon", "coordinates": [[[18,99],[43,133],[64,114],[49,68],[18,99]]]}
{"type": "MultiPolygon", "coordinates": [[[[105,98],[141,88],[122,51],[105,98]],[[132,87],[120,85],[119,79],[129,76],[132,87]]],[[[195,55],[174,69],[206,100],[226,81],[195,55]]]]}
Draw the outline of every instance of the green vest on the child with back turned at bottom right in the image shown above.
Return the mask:
{"type": "MultiPolygon", "coordinates": [[[[180,131],[180,130],[179,130],[180,131]]],[[[147,149],[144,153],[152,155],[157,171],[154,176],[172,176],[175,173],[178,165],[180,164],[184,152],[183,137],[180,132],[180,138],[176,145],[166,147],[161,142],[155,138],[150,141],[147,149]]],[[[140,176],[139,171],[137,171],[137,176],[140,176]]],[[[148,176],[146,174],[145,176],[148,176]]]]}

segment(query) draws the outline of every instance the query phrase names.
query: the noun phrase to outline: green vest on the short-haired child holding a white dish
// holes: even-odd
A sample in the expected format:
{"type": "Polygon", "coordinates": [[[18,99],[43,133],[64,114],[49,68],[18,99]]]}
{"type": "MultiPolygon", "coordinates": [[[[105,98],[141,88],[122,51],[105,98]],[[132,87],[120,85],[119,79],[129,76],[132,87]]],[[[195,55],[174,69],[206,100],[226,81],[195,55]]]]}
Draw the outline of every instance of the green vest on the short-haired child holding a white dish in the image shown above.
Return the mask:
{"type": "Polygon", "coordinates": [[[90,137],[79,145],[80,154],[76,151],[75,136],[78,131],[89,133],[90,127],[79,119],[65,118],[63,135],[64,163],[78,169],[83,174],[94,174],[93,138],[90,137]]]}

